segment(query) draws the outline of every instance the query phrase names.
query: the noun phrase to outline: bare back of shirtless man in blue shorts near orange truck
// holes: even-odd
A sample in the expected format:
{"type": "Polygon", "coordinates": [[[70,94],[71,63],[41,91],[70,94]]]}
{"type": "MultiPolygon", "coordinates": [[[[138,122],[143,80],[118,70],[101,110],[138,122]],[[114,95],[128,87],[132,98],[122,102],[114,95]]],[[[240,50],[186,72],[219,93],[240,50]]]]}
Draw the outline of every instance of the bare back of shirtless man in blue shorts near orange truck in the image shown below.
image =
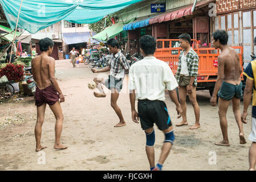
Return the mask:
{"type": "Polygon", "coordinates": [[[221,53],[219,58],[224,61],[224,81],[234,85],[239,84],[242,68],[238,53],[229,47],[221,53]]]}

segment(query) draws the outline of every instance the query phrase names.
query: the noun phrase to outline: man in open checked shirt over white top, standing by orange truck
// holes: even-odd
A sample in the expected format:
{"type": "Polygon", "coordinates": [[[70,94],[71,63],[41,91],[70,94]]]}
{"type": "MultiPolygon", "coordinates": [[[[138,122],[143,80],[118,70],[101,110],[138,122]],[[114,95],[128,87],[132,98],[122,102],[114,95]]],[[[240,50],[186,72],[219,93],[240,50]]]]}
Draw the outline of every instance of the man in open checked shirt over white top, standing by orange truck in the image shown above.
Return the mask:
{"type": "Polygon", "coordinates": [[[191,102],[194,115],[196,117],[196,123],[189,129],[198,129],[200,127],[200,108],[197,104],[196,97],[196,86],[197,86],[197,71],[198,71],[198,55],[192,47],[190,47],[191,37],[189,34],[181,34],[178,36],[180,39],[180,46],[184,51],[180,53],[178,57],[178,69],[176,73],[176,80],[178,82],[178,95],[180,98],[182,113],[182,122],[178,123],[176,126],[188,125],[186,119],[186,95],[189,96],[189,101],[191,102]]]}

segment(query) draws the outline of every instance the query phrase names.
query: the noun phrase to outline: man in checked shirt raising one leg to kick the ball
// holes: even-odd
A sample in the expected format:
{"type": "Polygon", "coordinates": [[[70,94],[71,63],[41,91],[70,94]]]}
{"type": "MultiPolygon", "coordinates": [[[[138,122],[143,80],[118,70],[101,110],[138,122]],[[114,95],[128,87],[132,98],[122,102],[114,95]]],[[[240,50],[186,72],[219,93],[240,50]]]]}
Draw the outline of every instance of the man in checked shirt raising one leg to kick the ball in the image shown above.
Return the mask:
{"type": "Polygon", "coordinates": [[[124,73],[128,70],[129,64],[123,53],[121,53],[119,49],[119,43],[116,39],[109,39],[107,41],[107,46],[109,51],[112,53],[111,59],[109,61],[108,67],[103,69],[96,69],[92,68],[92,72],[100,73],[100,72],[108,72],[110,71],[110,75],[107,79],[104,78],[94,78],[94,81],[97,85],[97,89],[99,89],[100,93],[94,92],[95,97],[105,97],[106,94],[102,88],[102,85],[105,85],[109,90],[111,90],[111,106],[115,110],[117,116],[119,117],[120,121],[115,125],[115,127],[125,126],[126,123],[123,118],[123,114],[121,112],[120,107],[116,104],[117,99],[119,97],[119,93],[123,88],[123,80],[124,80],[124,73]]]}

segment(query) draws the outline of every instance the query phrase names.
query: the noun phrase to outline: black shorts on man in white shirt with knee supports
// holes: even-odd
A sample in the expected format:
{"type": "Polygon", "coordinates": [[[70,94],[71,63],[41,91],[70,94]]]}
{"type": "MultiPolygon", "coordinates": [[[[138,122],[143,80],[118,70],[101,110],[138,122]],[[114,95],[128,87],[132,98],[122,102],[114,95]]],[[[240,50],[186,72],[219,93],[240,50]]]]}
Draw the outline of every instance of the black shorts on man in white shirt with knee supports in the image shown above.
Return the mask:
{"type": "Polygon", "coordinates": [[[139,100],[138,113],[143,130],[153,127],[154,123],[159,130],[166,130],[172,126],[164,101],[139,100]]]}

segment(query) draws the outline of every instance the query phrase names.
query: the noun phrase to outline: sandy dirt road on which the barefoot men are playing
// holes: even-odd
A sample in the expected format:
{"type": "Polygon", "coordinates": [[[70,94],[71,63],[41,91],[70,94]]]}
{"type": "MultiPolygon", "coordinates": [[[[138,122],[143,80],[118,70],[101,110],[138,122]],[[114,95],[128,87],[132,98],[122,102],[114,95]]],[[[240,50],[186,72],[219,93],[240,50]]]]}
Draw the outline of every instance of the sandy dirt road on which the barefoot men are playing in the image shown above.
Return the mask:
{"type": "MultiPolygon", "coordinates": [[[[110,106],[110,94],[95,98],[87,83],[100,73],[92,73],[87,65],[72,68],[69,60],[56,61],[56,78],[66,101],[62,104],[64,125],[62,142],[67,150],[55,151],[55,118],[46,107],[43,123],[43,152],[35,152],[34,126],[36,107],[32,97],[23,101],[0,104],[0,170],[148,170],[145,154],[145,134],[140,124],[131,119],[131,106],[127,90],[127,77],[120,94],[119,104],[127,126],[113,127],[119,122],[110,106]],[[41,160],[45,156],[45,164],[41,160]]],[[[108,73],[101,73],[107,77],[108,73]]],[[[194,123],[193,107],[187,102],[188,126],[174,127],[176,140],[165,161],[164,170],[247,170],[251,131],[249,123],[243,125],[247,143],[239,144],[238,127],[231,107],[227,111],[230,147],[215,146],[222,139],[218,108],[209,105],[208,91],[198,91],[201,128],[189,130],[194,123]],[[216,156],[214,155],[216,154],[216,156]],[[216,159],[216,161],[214,161],[216,159]],[[216,162],[216,164],[214,164],[216,162]]],[[[166,105],[173,125],[181,119],[166,93],[166,105]]],[[[242,111],[242,104],[241,104],[242,111]]],[[[164,135],[156,130],[155,154],[159,159],[164,135]]]]}

